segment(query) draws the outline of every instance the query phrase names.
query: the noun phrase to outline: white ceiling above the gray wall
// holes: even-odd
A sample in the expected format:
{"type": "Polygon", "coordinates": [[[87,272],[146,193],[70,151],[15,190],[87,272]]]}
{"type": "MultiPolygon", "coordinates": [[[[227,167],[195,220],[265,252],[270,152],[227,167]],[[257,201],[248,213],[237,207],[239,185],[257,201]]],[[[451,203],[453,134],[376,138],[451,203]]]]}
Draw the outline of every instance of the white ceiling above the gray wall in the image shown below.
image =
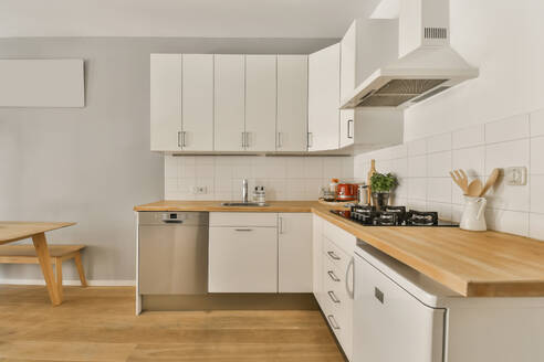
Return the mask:
{"type": "Polygon", "coordinates": [[[0,0],[0,38],[341,38],[378,0],[0,0]]]}

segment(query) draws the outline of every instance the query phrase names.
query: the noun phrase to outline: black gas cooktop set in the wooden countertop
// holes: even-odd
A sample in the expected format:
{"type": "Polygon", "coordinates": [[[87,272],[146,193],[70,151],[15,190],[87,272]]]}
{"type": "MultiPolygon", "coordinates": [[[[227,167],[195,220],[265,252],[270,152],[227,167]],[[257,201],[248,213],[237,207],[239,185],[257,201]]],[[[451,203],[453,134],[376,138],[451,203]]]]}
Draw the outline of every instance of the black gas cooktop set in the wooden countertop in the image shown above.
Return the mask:
{"type": "Polygon", "coordinates": [[[331,210],[333,214],[365,226],[459,226],[438,219],[435,211],[406,211],[406,206],[352,206],[349,210],[331,210]]]}

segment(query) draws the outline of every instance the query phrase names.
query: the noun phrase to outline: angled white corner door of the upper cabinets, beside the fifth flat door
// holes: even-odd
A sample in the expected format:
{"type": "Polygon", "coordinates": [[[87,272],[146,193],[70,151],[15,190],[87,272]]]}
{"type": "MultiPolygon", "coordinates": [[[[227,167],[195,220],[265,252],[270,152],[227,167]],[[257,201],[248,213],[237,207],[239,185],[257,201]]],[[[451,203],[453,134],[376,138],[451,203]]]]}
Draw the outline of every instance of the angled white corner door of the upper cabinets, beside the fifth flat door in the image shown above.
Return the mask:
{"type": "Polygon", "coordinates": [[[308,56],[308,150],[339,146],[341,44],[308,56]]]}

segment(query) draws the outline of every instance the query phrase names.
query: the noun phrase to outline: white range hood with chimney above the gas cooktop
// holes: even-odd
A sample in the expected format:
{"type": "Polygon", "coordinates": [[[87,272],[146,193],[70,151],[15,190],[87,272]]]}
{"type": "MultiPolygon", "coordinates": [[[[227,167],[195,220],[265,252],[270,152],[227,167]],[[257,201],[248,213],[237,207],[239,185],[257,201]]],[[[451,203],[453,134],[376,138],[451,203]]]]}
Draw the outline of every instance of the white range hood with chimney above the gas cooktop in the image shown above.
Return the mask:
{"type": "Polygon", "coordinates": [[[449,0],[397,1],[399,58],[357,86],[342,109],[406,108],[478,77],[478,68],[450,46],[449,0]]]}

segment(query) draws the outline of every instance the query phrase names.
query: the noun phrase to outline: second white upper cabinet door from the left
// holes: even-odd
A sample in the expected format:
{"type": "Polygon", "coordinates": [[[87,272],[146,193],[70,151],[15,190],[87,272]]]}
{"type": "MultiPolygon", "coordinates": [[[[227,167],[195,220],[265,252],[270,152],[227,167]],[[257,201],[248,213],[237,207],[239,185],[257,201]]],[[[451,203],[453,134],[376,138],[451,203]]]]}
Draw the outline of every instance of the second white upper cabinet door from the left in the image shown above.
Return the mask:
{"type": "Polygon", "coordinates": [[[187,151],[212,151],[212,54],[184,54],[182,108],[182,149],[187,151]]]}

